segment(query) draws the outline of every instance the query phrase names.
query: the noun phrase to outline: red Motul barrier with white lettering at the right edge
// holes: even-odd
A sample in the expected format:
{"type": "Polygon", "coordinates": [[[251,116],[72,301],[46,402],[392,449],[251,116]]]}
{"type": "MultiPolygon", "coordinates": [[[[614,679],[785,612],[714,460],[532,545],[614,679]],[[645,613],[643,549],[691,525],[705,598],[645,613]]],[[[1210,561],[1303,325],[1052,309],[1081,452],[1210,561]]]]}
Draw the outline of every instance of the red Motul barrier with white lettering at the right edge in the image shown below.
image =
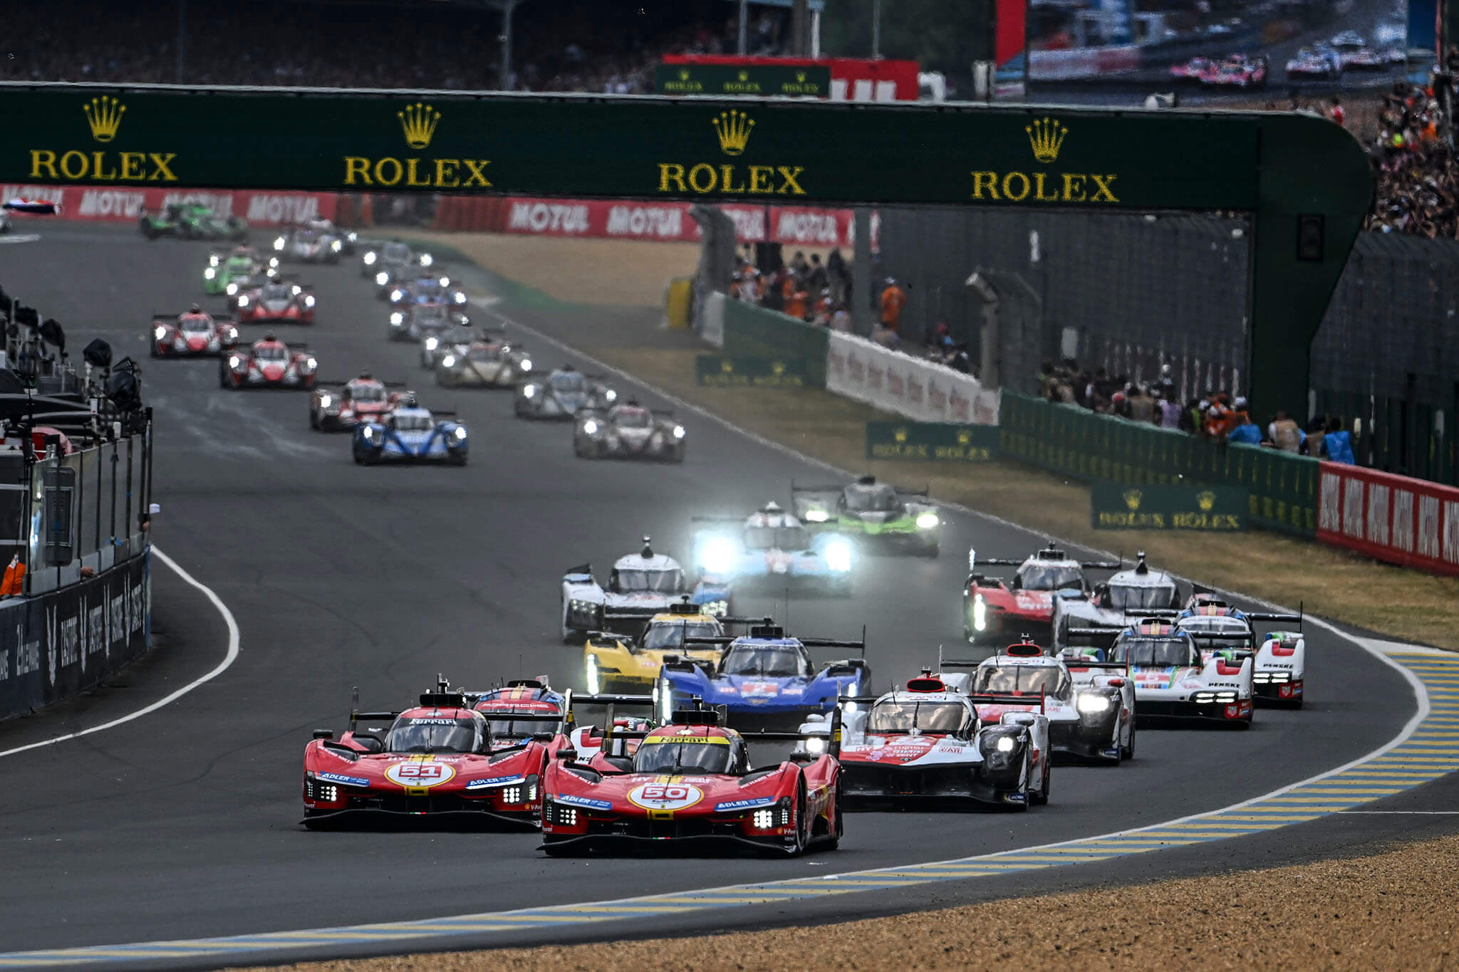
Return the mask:
{"type": "Polygon", "coordinates": [[[1459,490],[1320,463],[1317,539],[1376,560],[1459,574],[1459,490]]]}

